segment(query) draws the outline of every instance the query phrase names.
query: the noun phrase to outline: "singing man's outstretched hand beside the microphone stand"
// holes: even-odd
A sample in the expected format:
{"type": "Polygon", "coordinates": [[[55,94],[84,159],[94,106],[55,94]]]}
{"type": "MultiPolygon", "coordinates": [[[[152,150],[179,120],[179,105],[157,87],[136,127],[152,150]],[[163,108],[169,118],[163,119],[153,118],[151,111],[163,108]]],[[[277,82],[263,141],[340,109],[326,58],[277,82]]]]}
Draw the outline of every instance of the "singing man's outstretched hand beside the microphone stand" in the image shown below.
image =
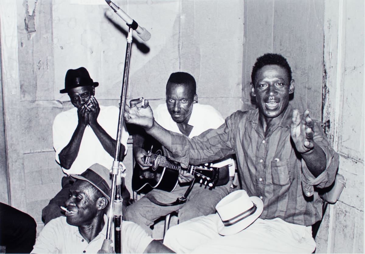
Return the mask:
{"type": "Polygon", "coordinates": [[[152,109],[148,100],[144,100],[142,107],[137,107],[137,104],[143,101],[143,97],[130,101],[130,107],[124,105],[124,120],[126,123],[137,124],[145,129],[153,127],[154,118],[152,109]]]}

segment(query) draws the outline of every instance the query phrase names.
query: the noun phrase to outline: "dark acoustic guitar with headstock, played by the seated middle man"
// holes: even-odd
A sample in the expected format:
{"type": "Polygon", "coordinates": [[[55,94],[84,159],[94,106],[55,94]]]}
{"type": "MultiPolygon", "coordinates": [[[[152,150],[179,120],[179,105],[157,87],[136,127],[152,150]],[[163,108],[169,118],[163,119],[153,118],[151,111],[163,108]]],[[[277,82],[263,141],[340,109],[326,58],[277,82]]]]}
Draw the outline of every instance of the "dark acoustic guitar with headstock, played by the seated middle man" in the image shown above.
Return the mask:
{"type": "MultiPolygon", "coordinates": [[[[142,170],[138,163],[135,164],[132,175],[133,191],[144,194],[153,188],[173,191],[178,184],[180,163],[164,156],[161,149],[153,151],[153,146],[148,152],[152,155],[145,157],[145,163],[152,164],[152,166],[147,170],[142,170]]],[[[209,187],[215,186],[219,178],[219,168],[217,167],[189,165],[187,171],[197,179],[197,182],[209,187]]]]}

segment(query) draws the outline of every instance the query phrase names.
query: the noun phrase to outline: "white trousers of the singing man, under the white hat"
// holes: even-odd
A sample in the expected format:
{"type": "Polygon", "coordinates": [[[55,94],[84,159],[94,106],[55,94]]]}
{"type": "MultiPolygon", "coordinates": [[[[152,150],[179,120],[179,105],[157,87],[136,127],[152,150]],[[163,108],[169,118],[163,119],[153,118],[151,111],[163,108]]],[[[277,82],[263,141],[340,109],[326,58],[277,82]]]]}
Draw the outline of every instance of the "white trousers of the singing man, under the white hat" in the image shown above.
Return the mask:
{"type": "Polygon", "coordinates": [[[176,253],[312,253],[316,243],[311,226],[282,219],[257,219],[245,230],[218,234],[218,214],[190,219],[171,227],[164,244],[176,253]]]}

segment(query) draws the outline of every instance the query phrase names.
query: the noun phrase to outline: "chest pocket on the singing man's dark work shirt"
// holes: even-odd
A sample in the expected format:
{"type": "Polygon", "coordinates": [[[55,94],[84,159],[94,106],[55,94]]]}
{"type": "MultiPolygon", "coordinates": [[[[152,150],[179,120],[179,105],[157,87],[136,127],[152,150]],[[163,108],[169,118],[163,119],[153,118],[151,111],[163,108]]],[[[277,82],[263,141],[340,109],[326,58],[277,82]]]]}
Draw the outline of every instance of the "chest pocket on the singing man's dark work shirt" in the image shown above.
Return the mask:
{"type": "Polygon", "coordinates": [[[290,160],[271,162],[271,175],[273,184],[287,185],[292,182],[292,170],[290,160]]]}

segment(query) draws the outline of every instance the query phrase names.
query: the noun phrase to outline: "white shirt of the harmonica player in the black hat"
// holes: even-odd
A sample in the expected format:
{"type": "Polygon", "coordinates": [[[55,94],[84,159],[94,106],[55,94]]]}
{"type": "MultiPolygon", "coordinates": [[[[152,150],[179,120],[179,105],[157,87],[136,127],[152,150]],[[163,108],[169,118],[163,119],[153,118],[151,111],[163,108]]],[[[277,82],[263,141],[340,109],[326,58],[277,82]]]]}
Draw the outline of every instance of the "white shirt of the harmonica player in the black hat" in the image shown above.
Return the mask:
{"type": "MultiPolygon", "coordinates": [[[[113,138],[116,139],[119,120],[119,108],[115,106],[100,106],[97,122],[113,138]]],[[[77,108],[59,113],[53,121],[53,148],[56,151],[56,161],[59,163],[58,154],[70,142],[77,127],[77,108]]],[[[121,143],[126,148],[129,134],[122,127],[121,143]]],[[[90,166],[99,163],[111,169],[114,158],[104,150],[92,128],[88,125],[82,136],[80,150],[70,169],[62,168],[65,174],[82,174],[90,166]]]]}

